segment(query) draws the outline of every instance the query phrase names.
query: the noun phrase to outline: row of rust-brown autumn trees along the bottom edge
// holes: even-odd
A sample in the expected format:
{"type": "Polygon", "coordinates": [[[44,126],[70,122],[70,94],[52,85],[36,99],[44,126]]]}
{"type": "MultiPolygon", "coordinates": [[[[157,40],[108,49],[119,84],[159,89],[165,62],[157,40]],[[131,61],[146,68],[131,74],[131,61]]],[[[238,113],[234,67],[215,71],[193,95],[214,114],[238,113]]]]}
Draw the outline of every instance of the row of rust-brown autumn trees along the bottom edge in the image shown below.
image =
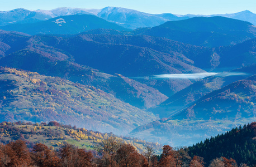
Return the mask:
{"type": "MultiPolygon", "coordinates": [[[[169,145],[163,146],[163,153],[154,155],[154,150],[146,148],[143,154],[122,140],[109,137],[97,147],[97,154],[65,144],[58,150],[37,143],[32,149],[27,148],[26,141],[12,141],[0,145],[0,166],[109,166],[109,167],[160,167],[160,166],[205,166],[203,158],[188,155],[187,148],[174,150],[169,145]]],[[[224,157],[211,161],[209,166],[238,166],[233,159],[224,157]]],[[[246,166],[241,164],[240,166],[246,166]]]]}

